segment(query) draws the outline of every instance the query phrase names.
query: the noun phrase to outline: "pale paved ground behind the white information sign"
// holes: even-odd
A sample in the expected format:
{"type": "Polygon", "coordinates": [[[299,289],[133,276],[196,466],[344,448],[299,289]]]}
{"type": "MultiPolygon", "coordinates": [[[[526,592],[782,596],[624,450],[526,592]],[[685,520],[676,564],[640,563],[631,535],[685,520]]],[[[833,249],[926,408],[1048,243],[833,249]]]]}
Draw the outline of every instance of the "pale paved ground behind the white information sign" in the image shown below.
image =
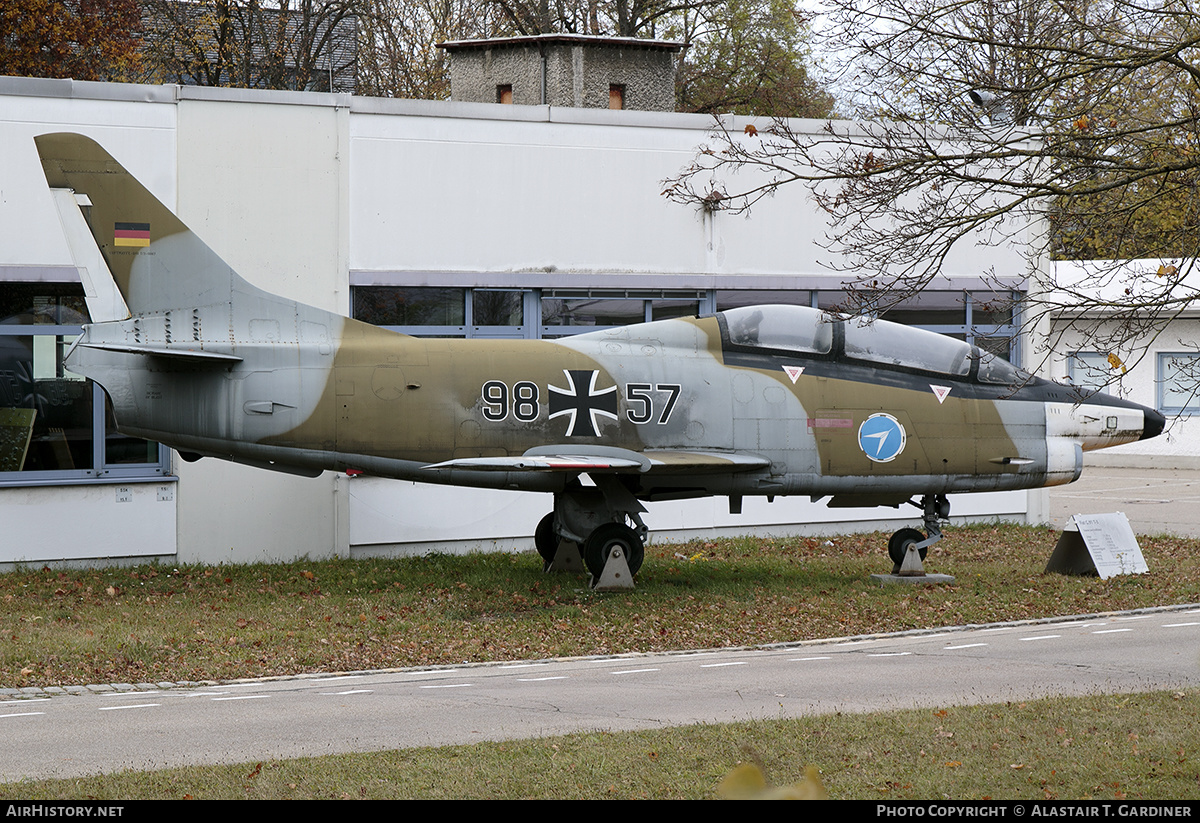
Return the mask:
{"type": "Polygon", "coordinates": [[[1060,529],[1072,515],[1122,511],[1134,534],[1200,537],[1200,471],[1088,465],[1068,486],[1050,489],[1050,517],[1060,529]]]}

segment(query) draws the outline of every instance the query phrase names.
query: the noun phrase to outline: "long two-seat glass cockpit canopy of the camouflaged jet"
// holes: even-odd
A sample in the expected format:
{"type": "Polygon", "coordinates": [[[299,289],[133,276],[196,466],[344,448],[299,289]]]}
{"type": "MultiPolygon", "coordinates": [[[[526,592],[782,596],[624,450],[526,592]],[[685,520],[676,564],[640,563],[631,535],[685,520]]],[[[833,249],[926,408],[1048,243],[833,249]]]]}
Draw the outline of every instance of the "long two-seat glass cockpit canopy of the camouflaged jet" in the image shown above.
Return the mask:
{"type": "Polygon", "coordinates": [[[844,318],[804,306],[746,306],[721,312],[726,344],[802,355],[846,356],[966,379],[978,364],[983,383],[1027,379],[1007,360],[960,340],[864,317],[844,318]]]}

